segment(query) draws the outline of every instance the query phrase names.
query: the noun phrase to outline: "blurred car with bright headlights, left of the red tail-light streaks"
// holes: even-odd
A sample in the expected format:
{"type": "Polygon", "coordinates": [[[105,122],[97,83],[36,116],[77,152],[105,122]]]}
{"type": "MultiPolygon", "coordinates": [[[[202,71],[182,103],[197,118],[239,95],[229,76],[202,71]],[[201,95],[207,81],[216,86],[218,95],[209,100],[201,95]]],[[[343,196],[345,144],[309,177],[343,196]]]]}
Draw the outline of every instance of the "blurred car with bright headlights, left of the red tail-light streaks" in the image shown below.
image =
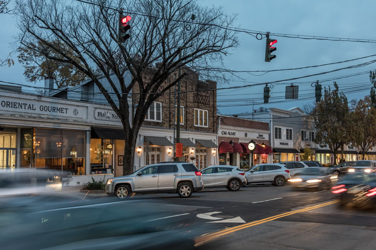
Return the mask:
{"type": "Polygon", "coordinates": [[[337,181],[337,176],[332,176],[331,172],[325,168],[310,167],[305,168],[301,173],[298,173],[294,178],[289,179],[288,182],[294,188],[315,188],[326,189],[331,187],[332,183],[337,181]]]}

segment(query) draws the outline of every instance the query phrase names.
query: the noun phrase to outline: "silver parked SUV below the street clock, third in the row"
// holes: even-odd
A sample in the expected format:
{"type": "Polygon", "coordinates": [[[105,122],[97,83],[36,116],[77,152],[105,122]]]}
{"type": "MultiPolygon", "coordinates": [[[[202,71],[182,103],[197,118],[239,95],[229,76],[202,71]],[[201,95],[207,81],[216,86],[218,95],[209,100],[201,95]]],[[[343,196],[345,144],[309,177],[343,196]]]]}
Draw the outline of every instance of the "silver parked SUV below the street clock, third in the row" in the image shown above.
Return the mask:
{"type": "Polygon", "coordinates": [[[275,186],[283,186],[290,179],[290,170],[277,163],[259,164],[245,171],[247,184],[273,183],[275,186]]]}

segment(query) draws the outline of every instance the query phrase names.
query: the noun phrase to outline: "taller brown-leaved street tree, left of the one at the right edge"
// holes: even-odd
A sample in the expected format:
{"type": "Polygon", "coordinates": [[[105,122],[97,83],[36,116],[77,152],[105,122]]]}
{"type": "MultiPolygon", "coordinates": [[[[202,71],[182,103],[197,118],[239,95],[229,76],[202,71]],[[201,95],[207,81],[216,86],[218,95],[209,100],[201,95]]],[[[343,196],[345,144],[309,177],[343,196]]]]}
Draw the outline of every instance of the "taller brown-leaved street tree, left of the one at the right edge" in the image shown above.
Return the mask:
{"type": "Polygon", "coordinates": [[[339,92],[336,82],[333,90],[329,87],[324,91],[324,97],[316,104],[313,112],[316,126],[315,142],[329,146],[336,164],[338,149],[350,141],[349,107],[346,96],[339,92]]]}

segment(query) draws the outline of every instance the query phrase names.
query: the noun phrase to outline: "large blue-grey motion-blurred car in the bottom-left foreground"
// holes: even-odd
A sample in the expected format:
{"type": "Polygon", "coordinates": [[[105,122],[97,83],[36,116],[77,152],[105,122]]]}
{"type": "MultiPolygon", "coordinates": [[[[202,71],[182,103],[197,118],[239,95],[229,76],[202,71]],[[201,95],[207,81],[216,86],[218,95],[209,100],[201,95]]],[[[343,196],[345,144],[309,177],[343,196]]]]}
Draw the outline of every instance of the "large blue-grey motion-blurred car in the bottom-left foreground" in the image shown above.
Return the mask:
{"type": "Polygon", "coordinates": [[[165,218],[172,213],[164,202],[81,198],[55,193],[1,200],[0,225],[7,229],[0,234],[1,249],[185,250],[203,233],[189,229],[190,222],[165,218]]]}

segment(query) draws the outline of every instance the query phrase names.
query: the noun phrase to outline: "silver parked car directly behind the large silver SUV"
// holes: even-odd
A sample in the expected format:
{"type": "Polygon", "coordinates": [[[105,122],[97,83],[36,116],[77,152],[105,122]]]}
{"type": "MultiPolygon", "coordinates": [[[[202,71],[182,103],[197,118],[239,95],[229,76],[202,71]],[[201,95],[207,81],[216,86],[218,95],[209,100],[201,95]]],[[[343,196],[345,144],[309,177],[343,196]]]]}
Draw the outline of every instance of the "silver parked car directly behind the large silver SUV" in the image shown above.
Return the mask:
{"type": "Polygon", "coordinates": [[[244,171],[236,166],[209,166],[201,170],[204,187],[226,187],[230,191],[238,191],[247,184],[244,171]]]}

